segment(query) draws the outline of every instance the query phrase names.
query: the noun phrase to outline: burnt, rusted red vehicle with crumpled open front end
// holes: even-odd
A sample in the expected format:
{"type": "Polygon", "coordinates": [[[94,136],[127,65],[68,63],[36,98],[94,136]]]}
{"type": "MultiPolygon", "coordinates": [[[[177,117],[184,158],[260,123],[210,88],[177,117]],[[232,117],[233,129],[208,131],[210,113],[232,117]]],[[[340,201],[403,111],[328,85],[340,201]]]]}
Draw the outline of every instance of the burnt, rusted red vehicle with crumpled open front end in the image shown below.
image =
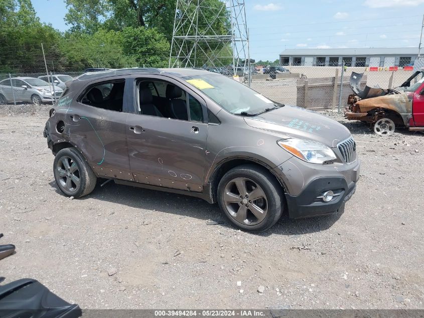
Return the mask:
{"type": "Polygon", "coordinates": [[[361,89],[363,73],[352,72],[345,117],[369,124],[378,135],[391,135],[395,127],[424,131],[424,69],[413,73],[397,88],[365,85],[361,89]]]}

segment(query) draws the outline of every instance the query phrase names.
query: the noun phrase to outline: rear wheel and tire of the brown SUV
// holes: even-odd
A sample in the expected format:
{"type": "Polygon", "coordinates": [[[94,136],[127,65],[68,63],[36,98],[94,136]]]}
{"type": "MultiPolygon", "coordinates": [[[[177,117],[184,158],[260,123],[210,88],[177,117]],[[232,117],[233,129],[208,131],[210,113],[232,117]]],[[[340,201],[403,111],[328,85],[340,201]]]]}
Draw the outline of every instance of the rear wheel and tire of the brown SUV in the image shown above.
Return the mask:
{"type": "Polygon", "coordinates": [[[82,197],[96,186],[96,175],[75,148],[64,148],[56,154],[53,173],[59,189],[68,196],[82,197]]]}

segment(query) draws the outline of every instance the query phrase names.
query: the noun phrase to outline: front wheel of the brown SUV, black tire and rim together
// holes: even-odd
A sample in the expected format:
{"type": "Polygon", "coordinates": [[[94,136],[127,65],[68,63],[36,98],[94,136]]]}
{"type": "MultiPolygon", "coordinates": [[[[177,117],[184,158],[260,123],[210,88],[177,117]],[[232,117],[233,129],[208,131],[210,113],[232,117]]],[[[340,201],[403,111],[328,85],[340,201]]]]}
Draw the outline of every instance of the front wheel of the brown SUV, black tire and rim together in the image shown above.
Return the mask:
{"type": "Polygon", "coordinates": [[[229,170],[219,181],[217,194],[219,207],[228,220],[249,232],[269,229],[284,210],[284,196],[277,180],[267,169],[253,164],[229,170]]]}

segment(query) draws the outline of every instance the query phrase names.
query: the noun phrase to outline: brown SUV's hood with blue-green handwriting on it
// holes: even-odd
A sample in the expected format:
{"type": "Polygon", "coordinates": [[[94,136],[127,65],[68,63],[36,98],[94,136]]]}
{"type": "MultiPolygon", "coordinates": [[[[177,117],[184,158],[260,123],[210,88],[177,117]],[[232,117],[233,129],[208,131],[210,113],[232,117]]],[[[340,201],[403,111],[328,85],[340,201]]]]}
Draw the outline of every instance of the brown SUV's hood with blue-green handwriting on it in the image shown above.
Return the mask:
{"type": "Polygon", "coordinates": [[[255,117],[244,118],[247,125],[281,134],[282,138],[304,138],[329,147],[350,137],[350,131],[338,122],[300,107],[286,105],[255,117]]]}

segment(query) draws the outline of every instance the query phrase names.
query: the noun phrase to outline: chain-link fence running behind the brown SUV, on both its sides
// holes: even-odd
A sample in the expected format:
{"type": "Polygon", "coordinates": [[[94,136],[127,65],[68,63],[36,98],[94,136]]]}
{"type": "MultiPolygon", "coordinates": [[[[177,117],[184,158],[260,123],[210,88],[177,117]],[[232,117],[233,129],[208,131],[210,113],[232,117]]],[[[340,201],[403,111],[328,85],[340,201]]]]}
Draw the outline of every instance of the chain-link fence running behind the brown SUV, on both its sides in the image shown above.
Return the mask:
{"type": "MultiPolygon", "coordinates": [[[[348,63],[347,63],[348,64],[348,63]]],[[[358,61],[356,62],[358,64],[358,61]]],[[[396,88],[403,83],[413,70],[410,67],[350,67],[345,65],[343,80],[341,66],[284,66],[286,71],[274,74],[263,74],[261,68],[252,67],[250,87],[268,98],[285,104],[298,105],[311,110],[337,110],[340,92],[341,109],[347,103],[348,95],[352,93],[349,79],[352,72],[364,73],[361,84],[371,87],[396,88]]],[[[0,74],[0,104],[16,102],[53,103],[65,88],[65,81],[81,75],[83,71],[68,71],[61,73],[1,73],[0,74]],[[40,90],[31,90],[29,86],[38,78],[48,82],[44,91],[50,89],[52,94],[38,99],[40,90]],[[12,79],[12,80],[11,80],[12,79]],[[52,85],[52,83],[54,85],[52,85]],[[27,86],[26,88],[23,86],[27,86]]],[[[229,74],[225,74],[231,76],[229,74]]],[[[240,74],[241,75],[241,74],[240,74]]],[[[240,76],[241,82],[248,84],[248,76],[240,76]]],[[[42,96],[39,96],[42,97],[42,96]]]]}

